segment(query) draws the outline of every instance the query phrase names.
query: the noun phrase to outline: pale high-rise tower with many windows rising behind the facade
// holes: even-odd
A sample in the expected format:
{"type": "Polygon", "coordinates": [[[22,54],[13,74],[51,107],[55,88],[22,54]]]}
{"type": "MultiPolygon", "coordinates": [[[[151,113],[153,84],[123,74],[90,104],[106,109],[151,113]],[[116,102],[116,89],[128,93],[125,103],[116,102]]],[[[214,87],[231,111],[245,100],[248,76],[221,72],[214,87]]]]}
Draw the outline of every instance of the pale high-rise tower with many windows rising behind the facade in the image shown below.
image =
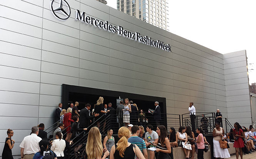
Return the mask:
{"type": "MultiPolygon", "coordinates": [[[[168,0],[117,0],[117,10],[168,30],[168,0]]],[[[169,30],[168,30],[169,31],[169,30]]]]}

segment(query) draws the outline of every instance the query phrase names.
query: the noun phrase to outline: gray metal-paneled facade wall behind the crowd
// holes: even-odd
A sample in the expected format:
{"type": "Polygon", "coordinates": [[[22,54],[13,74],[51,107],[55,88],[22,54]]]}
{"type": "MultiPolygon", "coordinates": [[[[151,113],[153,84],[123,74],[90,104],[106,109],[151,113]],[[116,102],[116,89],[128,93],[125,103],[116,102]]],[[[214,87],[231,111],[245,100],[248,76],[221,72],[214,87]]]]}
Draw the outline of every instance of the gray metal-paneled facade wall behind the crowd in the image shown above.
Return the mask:
{"type": "MultiPolygon", "coordinates": [[[[164,97],[167,113],[176,114],[187,113],[192,101],[197,112],[219,108],[223,116],[229,117],[233,110],[227,107],[229,100],[249,102],[248,75],[239,75],[247,73],[245,51],[239,53],[239,58],[230,53],[224,59],[223,54],[95,0],[67,0],[71,16],[59,20],[51,11],[51,2],[0,2],[0,151],[8,128],[15,132],[13,155],[19,155],[19,144],[32,126],[44,123],[48,127],[53,123],[62,84],[164,97]],[[172,52],[78,21],[77,9],[171,44],[172,52]],[[234,77],[228,76],[227,81],[228,74],[234,77]],[[228,93],[232,96],[243,89],[244,96],[228,98],[228,85],[237,82],[243,86],[228,93]]],[[[251,111],[248,104],[243,111],[251,111]]],[[[251,124],[249,113],[244,118],[236,116],[237,112],[241,109],[232,112],[231,117],[235,116],[241,125],[251,124]]]]}

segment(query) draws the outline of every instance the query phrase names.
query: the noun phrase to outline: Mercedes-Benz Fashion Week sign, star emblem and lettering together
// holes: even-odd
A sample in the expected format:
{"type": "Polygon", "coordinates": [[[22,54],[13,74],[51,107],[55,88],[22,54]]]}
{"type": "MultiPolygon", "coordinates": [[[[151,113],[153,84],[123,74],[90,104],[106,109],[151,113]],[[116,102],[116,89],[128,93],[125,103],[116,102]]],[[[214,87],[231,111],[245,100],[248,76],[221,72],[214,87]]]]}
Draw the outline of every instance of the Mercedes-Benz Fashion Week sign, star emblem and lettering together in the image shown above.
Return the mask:
{"type": "MultiPolygon", "coordinates": [[[[53,14],[60,20],[66,20],[67,18],[69,18],[70,14],[71,14],[69,4],[67,3],[66,0],[52,0],[51,9],[52,9],[53,14]],[[56,2],[58,1],[58,2],[55,3],[55,1],[56,2]]],[[[120,25],[116,26],[116,25],[109,24],[108,21],[101,21],[101,20],[93,18],[89,15],[86,16],[84,11],[82,12],[80,10],[76,10],[75,19],[82,21],[84,23],[90,24],[90,25],[94,25],[98,28],[102,28],[104,30],[110,31],[112,33],[117,33],[117,34],[125,36],[127,38],[134,39],[141,43],[145,43],[145,44],[154,46],[156,48],[160,48],[165,51],[171,52],[170,44],[165,44],[164,42],[162,42],[160,40],[153,40],[149,36],[142,36],[138,32],[127,31],[120,25]]]]}

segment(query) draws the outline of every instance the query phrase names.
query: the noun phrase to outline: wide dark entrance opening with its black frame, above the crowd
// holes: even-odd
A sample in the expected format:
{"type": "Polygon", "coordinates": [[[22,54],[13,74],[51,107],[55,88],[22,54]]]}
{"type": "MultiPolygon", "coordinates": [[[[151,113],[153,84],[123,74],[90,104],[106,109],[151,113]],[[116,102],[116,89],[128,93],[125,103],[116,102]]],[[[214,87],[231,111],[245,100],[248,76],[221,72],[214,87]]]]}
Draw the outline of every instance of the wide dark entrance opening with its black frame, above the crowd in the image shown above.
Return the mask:
{"type": "MultiPolygon", "coordinates": [[[[93,107],[99,97],[104,98],[104,104],[112,103],[112,107],[115,109],[117,107],[116,100],[119,97],[123,100],[129,98],[129,100],[137,104],[139,110],[143,109],[143,111],[148,111],[149,108],[154,110],[154,102],[157,101],[161,107],[161,113],[166,114],[166,98],[62,84],[62,104],[65,109],[70,107],[70,103],[75,102],[79,102],[79,110],[84,108],[86,103],[90,103],[93,107]]],[[[166,126],[167,119],[164,114],[162,114],[162,120],[164,120],[164,125],[166,126]]],[[[152,115],[147,113],[146,116],[152,115]]]]}

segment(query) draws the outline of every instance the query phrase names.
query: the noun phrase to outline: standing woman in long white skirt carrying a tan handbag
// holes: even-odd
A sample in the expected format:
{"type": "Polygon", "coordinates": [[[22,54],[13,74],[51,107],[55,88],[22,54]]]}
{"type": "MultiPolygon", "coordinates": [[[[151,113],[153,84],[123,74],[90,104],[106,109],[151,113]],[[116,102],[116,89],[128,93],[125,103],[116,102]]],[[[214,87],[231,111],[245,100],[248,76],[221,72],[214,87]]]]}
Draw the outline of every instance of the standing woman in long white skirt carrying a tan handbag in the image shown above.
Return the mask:
{"type": "Polygon", "coordinates": [[[219,145],[219,141],[221,140],[222,136],[224,135],[224,129],[220,127],[220,123],[215,123],[215,128],[212,131],[213,136],[213,156],[217,158],[229,158],[230,154],[228,149],[223,149],[219,145]]]}

